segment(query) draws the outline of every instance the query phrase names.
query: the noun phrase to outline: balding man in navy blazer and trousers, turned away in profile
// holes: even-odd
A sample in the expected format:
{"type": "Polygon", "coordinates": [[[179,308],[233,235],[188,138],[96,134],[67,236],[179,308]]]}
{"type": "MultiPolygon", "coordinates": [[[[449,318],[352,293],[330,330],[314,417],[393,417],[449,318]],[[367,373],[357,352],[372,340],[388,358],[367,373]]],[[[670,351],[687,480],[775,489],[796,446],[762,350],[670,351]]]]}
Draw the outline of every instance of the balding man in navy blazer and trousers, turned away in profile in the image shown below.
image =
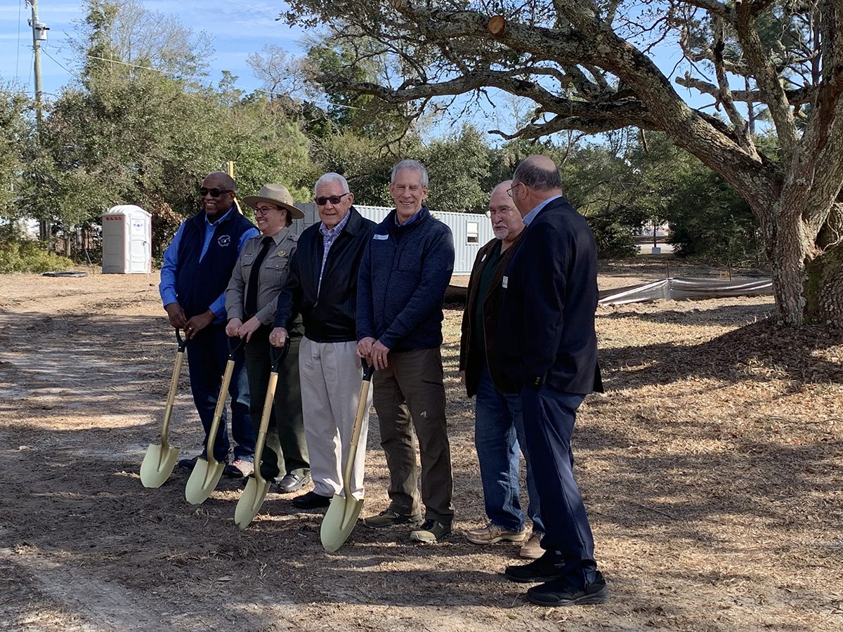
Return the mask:
{"type": "Polygon", "coordinates": [[[504,273],[498,359],[521,388],[524,435],[539,492],[545,554],[508,566],[532,603],[604,603],[609,588],[594,561],[594,540],[573,476],[571,436],[585,396],[602,390],[597,366],[597,246],[585,218],[561,191],[550,158],[518,165],[508,191],[524,234],[504,273]]]}

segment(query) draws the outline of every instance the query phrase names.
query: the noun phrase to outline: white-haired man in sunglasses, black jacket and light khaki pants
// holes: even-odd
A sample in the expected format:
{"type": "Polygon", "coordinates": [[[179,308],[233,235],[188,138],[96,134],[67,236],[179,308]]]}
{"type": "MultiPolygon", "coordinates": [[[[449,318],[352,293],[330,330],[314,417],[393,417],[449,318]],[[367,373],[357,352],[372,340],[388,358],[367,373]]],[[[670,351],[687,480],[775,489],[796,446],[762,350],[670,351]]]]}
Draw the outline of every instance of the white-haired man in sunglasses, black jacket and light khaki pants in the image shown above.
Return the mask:
{"type": "MultiPolygon", "coordinates": [[[[355,324],[357,270],[374,228],[374,222],[352,206],[354,194],[340,174],[324,174],[314,191],[321,221],[298,238],[270,334],[271,344],[284,345],[287,322],[302,314],[298,373],[314,489],[293,499],[293,505],[305,510],[328,506],[342,490],[362,380],[355,324]]],[[[362,420],[350,482],[357,498],[363,495],[370,405],[362,420]]]]}

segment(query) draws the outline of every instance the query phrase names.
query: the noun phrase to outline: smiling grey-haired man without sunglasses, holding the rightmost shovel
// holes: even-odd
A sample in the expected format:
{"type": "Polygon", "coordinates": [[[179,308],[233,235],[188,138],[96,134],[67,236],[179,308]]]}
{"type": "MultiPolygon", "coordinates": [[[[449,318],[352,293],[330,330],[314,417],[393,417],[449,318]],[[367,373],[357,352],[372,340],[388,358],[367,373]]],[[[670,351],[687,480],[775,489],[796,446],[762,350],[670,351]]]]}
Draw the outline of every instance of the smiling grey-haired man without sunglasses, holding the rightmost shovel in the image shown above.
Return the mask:
{"type": "Polygon", "coordinates": [[[389,467],[390,503],[363,524],[385,528],[421,523],[418,437],[425,515],[410,537],[430,543],[448,536],[454,519],[439,349],[444,295],[454,271],[454,238],[450,228],[423,206],[427,197],[423,164],[416,160],[396,164],[389,194],[395,210],[375,227],[360,265],[357,354],[375,367],[373,401],[389,467]]]}

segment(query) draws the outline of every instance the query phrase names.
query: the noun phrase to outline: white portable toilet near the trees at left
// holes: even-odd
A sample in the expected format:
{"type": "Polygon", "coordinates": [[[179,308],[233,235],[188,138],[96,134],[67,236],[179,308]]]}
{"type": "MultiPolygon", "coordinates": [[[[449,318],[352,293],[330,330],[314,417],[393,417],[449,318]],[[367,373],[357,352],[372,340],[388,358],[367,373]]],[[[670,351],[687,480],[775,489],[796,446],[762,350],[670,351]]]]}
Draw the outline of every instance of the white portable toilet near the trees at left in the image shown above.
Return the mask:
{"type": "Polygon", "coordinates": [[[103,274],[152,271],[152,215],[140,206],[112,206],[103,213],[103,274]]]}

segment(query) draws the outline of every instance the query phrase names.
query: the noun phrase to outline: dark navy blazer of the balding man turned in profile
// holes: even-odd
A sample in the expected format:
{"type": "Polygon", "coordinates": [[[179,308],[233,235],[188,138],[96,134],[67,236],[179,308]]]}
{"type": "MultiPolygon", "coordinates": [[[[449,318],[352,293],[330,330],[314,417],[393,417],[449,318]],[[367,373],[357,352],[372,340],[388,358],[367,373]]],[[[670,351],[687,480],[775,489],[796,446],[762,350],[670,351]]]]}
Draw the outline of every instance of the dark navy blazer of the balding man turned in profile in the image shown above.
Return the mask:
{"type": "Polygon", "coordinates": [[[530,222],[504,273],[498,361],[513,383],[602,390],[597,364],[597,245],[564,197],[530,222]]]}

